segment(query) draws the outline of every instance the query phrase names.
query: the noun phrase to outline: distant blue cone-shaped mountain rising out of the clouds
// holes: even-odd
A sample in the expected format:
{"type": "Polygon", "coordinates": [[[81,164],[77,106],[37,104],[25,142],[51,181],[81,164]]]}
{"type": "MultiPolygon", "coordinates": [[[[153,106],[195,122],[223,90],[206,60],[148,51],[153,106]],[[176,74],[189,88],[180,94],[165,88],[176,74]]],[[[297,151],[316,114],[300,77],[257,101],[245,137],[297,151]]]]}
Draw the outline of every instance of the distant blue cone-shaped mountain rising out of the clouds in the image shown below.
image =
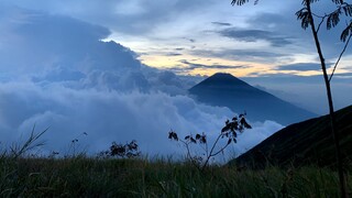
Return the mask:
{"type": "Polygon", "coordinates": [[[287,125],[317,116],[230,74],[215,74],[190,88],[189,94],[205,103],[228,107],[237,113],[245,111],[251,121],[273,120],[287,125]]]}

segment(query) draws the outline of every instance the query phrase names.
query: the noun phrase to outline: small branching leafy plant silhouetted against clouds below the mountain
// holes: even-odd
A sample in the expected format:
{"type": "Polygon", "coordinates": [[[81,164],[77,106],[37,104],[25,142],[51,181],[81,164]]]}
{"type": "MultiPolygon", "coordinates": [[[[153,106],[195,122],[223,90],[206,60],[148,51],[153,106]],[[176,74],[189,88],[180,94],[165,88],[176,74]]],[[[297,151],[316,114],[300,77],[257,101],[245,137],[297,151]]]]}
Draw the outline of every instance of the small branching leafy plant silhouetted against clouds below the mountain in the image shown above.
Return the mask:
{"type": "Polygon", "coordinates": [[[186,135],[184,139],[179,139],[175,131],[168,132],[168,139],[180,142],[187,150],[187,158],[190,160],[193,165],[195,165],[199,170],[204,170],[210,160],[223,151],[231,144],[237,143],[238,133],[242,133],[245,129],[251,129],[252,127],[246,122],[245,114],[240,114],[239,117],[233,117],[232,120],[227,120],[226,125],[222,128],[221,132],[217,136],[216,141],[212,143],[210,150],[208,145],[207,135],[205,133],[197,133],[195,136],[193,134],[186,135]],[[227,142],[218,146],[221,139],[227,139],[227,142]],[[193,155],[190,145],[199,145],[204,153],[201,155],[193,155]]]}

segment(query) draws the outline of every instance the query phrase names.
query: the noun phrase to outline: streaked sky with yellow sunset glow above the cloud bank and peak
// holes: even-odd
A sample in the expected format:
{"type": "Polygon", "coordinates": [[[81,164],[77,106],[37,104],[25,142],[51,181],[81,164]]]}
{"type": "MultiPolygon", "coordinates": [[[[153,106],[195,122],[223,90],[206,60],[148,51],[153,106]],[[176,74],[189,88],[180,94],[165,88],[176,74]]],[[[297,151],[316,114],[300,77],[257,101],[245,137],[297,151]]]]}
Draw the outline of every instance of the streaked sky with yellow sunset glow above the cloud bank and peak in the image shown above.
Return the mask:
{"type": "MultiPolygon", "coordinates": [[[[9,2],[102,25],[110,31],[103,40],[130,47],[148,66],[178,74],[320,74],[319,66],[311,65],[317,63],[317,55],[309,31],[301,30],[295,16],[300,1],[270,0],[244,7],[232,7],[230,0],[9,2]]],[[[317,13],[334,8],[324,3],[324,10],[317,8],[317,13]]],[[[338,34],[331,31],[321,35],[328,63],[336,62],[342,47],[338,34]]],[[[351,73],[351,53],[345,56],[338,73],[351,73]]]]}

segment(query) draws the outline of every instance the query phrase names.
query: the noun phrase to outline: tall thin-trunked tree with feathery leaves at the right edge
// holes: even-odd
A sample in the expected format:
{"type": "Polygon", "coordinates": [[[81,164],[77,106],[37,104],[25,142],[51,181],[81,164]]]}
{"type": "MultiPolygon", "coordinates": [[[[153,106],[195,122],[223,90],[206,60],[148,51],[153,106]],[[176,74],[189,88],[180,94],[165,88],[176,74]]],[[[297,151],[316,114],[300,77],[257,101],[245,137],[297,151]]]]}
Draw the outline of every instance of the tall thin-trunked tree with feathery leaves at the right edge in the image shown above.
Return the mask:
{"type": "MultiPolygon", "coordinates": [[[[231,4],[234,6],[242,6],[245,2],[249,2],[250,0],[232,0],[231,4]]],[[[311,4],[319,2],[320,0],[302,0],[302,9],[296,12],[297,19],[301,22],[301,28],[304,30],[310,28],[310,31],[312,33],[312,37],[315,41],[315,45],[317,48],[317,53],[320,61],[320,66],[322,70],[322,77],[326,84],[326,90],[327,90],[327,97],[328,97],[328,103],[329,103],[329,114],[330,114],[330,127],[331,127],[331,134],[334,140],[334,147],[336,147],[336,157],[337,157],[337,165],[338,165],[338,172],[339,172],[339,179],[340,179],[340,187],[341,187],[341,197],[348,197],[348,190],[346,190],[346,182],[344,176],[344,170],[342,167],[342,157],[341,157],[341,151],[340,151],[340,138],[338,133],[338,128],[336,124],[336,118],[334,118],[334,108],[333,108],[333,101],[332,101],[332,94],[331,94],[331,87],[330,82],[333,77],[333,74],[341,61],[342,55],[344,54],[351,38],[352,38],[352,4],[351,2],[348,2],[345,0],[331,0],[332,6],[334,9],[332,11],[328,10],[328,13],[324,14],[317,14],[314,12],[311,4]],[[319,31],[321,25],[326,22],[327,30],[331,30],[332,28],[336,28],[340,23],[340,18],[345,18],[345,26],[343,31],[341,32],[340,40],[341,42],[344,42],[344,47],[342,48],[337,62],[334,63],[332,73],[330,76],[327,72],[327,65],[326,65],[326,58],[323,55],[322,46],[320,45],[321,41],[319,38],[319,31]],[[318,21],[318,23],[316,23],[318,21]]],[[[254,3],[256,4],[258,0],[255,0],[254,3]]]]}

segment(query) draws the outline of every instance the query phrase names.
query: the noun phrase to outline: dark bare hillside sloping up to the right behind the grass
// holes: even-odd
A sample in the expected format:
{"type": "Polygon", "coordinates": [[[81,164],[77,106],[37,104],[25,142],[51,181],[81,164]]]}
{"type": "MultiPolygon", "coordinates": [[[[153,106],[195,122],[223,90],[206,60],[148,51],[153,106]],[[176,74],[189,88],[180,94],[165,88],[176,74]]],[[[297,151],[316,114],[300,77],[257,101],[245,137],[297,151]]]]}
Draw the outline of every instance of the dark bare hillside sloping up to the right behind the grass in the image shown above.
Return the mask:
{"type": "MultiPolygon", "coordinates": [[[[344,164],[352,160],[352,106],[336,112],[344,164]]],[[[267,163],[279,166],[317,164],[332,166],[334,144],[329,116],[292,124],[231,163],[264,167],[267,163]]]]}

